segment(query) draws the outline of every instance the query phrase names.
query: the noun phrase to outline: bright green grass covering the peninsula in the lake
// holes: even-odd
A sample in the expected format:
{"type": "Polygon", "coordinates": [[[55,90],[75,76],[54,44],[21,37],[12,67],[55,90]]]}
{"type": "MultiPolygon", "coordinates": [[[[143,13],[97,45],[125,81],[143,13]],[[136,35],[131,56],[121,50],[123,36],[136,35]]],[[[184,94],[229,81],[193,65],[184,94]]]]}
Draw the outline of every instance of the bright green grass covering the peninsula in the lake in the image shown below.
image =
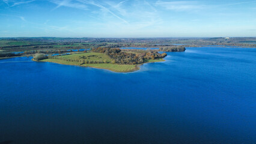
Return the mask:
{"type": "MultiPolygon", "coordinates": [[[[106,59],[108,62],[111,62],[111,59],[105,53],[95,53],[95,52],[88,52],[88,53],[77,53],[73,55],[65,55],[61,56],[66,59],[87,59],[88,61],[103,61],[106,59]],[[90,59],[89,59],[90,58],[90,59]]],[[[119,73],[131,72],[139,70],[138,65],[119,65],[119,64],[82,64],[81,62],[75,61],[64,61],[62,59],[43,59],[42,62],[55,62],[58,64],[65,64],[65,65],[78,65],[82,67],[94,67],[94,68],[103,68],[106,70],[111,70],[119,73]]],[[[164,61],[163,59],[150,59],[146,62],[160,62],[164,61]]]]}

